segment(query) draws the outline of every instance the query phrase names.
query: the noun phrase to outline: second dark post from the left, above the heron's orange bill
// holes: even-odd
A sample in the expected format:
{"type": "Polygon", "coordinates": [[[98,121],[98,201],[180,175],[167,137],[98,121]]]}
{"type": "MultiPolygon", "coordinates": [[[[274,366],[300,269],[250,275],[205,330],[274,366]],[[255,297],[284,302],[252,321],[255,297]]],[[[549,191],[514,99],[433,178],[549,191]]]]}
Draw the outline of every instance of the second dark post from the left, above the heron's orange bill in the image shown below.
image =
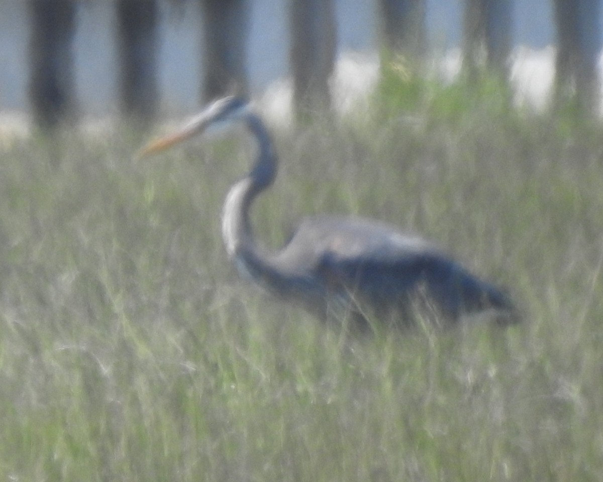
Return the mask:
{"type": "Polygon", "coordinates": [[[119,0],[119,101],[122,113],[150,121],[157,111],[157,2],[119,0]]]}

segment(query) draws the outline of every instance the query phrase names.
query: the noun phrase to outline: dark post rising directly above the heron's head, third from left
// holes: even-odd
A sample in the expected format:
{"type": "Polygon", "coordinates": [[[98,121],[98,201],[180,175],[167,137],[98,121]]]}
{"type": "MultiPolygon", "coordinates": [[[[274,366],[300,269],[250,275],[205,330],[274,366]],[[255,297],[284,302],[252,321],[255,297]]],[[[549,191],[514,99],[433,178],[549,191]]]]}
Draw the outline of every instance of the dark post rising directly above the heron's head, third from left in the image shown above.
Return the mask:
{"type": "Polygon", "coordinates": [[[201,0],[204,27],[203,102],[224,95],[248,96],[245,41],[247,0],[201,0]]]}

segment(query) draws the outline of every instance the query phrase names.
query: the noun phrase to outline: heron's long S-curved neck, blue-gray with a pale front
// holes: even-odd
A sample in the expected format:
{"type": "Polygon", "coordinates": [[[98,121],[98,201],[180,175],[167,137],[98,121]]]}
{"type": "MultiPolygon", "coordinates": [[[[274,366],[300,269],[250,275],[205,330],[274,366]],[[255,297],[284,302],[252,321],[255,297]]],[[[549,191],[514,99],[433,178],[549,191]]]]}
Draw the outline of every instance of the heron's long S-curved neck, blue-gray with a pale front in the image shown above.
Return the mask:
{"type": "Polygon", "coordinates": [[[238,268],[257,278],[272,270],[266,255],[255,242],[249,210],[256,196],[274,181],[277,161],[262,121],[253,114],[245,121],[257,140],[259,152],[250,173],[230,188],[223,207],[222,235],[227,252],[239,264],[238,268]]]}

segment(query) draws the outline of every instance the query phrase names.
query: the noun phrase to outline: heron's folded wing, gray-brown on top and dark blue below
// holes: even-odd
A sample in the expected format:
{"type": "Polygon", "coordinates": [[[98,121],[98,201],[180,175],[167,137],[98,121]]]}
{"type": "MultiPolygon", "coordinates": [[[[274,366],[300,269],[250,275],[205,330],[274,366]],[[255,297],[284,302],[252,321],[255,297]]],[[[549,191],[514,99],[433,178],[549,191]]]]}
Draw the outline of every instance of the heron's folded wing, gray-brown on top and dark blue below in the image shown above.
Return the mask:
{"type": "Polygon", "coordinates": [[[510,305],[434,244],[368,219],[307,219],[274,261],[323,293],[354,293],[373,305],[399,304],[419,286],[453,318],[461,311],[510,305]]]}

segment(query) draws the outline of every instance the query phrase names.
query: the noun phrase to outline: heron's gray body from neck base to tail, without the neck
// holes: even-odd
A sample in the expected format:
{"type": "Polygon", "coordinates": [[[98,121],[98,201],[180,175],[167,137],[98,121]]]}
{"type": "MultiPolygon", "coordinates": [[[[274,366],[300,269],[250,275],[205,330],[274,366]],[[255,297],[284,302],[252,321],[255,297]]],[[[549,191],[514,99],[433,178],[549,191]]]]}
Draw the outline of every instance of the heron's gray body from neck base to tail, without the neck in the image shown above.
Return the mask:
{"type": "Polygon", "coordinates": [[[243,275],[321,319],[351,316],[363,325],[373,315],[406,326],[421,308],[443,324],[491,308],[513,311],[504,293],[431,243],[369,219],[308,218],[281,251],[258,257],[242,250],[234,258],[243,275]]]}

